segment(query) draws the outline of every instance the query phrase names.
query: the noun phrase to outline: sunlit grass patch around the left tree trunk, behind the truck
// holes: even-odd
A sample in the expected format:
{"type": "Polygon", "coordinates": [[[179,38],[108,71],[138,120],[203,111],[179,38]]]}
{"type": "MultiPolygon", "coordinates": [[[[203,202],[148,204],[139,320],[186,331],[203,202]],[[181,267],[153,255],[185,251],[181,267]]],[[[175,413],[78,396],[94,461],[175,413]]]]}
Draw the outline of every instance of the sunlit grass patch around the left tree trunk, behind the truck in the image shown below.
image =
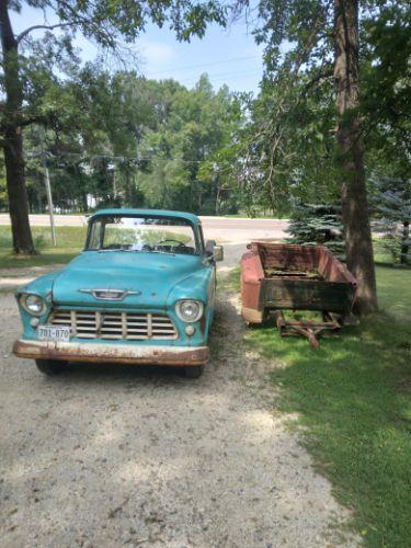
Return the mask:
{"type": "Polygon", "coordinates": [[[11,252],[10,227],[0,227],[0,267],[68,263],[81,251],[85,241],[85,227],[57,227],[56,247],[52,243],[48,227],[33,227],[32,231],[38,254],[18,256],[11,252]]]}

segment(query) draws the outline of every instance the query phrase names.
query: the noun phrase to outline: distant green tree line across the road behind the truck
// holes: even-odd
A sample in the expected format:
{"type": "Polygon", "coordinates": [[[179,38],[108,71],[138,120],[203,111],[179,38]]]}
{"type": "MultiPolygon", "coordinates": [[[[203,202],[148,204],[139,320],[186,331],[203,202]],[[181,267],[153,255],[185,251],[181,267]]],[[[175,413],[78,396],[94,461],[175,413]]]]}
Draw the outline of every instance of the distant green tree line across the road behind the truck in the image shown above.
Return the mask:
{"type": "MultiPolygon", "coordinates": [[[[48,82],[42,101],[58,103],[60,112],[24,130],[32,213],[47,210],[44,158],[57,210],[116,205],[215,215],[241,207],[236,142],[246,124],[242,94],[214,91],[207,76],[187,90],[88,64],[62,82],[48,82]]],[[[7,209],[4,175],[0,184],[7,209]]]]}

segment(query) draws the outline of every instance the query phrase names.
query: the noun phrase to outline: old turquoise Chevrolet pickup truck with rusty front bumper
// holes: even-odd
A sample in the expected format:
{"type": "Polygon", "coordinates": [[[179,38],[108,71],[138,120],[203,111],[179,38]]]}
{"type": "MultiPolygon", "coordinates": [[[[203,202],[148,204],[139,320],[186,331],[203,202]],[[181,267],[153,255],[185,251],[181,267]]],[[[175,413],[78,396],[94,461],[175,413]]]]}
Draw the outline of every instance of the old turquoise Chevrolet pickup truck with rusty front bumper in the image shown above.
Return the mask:
{"type": "Polygon", "coordinates": [[[64,270],[16,292],[23,334],[13,352],[47,375],[68,362],[160,364],[198,377],[208,359],[216,261],[192,214],[104,209],[64,270]]]}

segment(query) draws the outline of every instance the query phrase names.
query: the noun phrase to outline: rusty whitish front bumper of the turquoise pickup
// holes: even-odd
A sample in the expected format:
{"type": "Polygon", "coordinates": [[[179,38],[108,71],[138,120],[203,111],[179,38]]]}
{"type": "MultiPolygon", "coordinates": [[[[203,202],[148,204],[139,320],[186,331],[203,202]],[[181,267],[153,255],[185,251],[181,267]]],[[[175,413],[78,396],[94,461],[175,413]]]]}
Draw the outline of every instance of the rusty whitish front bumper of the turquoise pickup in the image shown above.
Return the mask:
{"type": "Polygon", "coordinates": [[[34,359],[186,366],[205,365],[209,350],[208,346],[53,343],[20,339],[13,345],[13,353],[34,359]]]}

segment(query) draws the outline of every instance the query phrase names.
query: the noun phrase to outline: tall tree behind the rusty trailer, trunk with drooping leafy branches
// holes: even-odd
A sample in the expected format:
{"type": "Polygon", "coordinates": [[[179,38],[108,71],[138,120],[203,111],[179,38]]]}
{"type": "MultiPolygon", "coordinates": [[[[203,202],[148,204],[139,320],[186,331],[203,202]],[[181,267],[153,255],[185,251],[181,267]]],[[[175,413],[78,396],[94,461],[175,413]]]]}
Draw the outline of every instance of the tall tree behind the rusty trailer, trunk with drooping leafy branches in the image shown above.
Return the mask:
{"type": "MultiPolygon", "coordinates": [[[[247,1],[237,2],[244,3],[249,4],[247,1]]],[[[363,136],[366,126],[363,124],[359,67],[363,55],[375,53],[369,39],[373,21],[384,20],[387,9],[406,11],[404,4],[390,0],[364,0],[359,21],[359,0],[259,2],[260,23],[255,37],[265,46],[263,90],[264,85],[273,89],[275,84],[279,84],[282,90],[282,98],[273,101],[271,119],[258,130],[260,139],[266,142],[262,156],[263,182],[271,192],[272,203],[282,195],[287,198],[289,185],[286,184],[288,176],[284,171],[284,159],[288,156],[287,146],[293,134],[288,122],[290,113],[300,109],[307,94],[315,96],[321,88],[324,90],[334,83],[331,119],[335,119],[335,128],[328,156],[339,180],[346,261],[358,279],[356,309],[361,313],[376,310],[377,297],[364,167],[363,136]],[[304,79],[306,83],[301,85],[304,79]],[[298,91],[302,93],[298,95],[298,91]]],[[[322,113],[326,112],[322,107],[322,113]]],[[[324,141],[330,142],[330,139],[324,141]]],[[[300,162],[305,165],[306,148],[304,144],[299,145],[300,162]]],[[[290,146],[292,151],[296,148],[290,146]]],[[[294,180],[295,175],[296,171],[294,180]]]]}

